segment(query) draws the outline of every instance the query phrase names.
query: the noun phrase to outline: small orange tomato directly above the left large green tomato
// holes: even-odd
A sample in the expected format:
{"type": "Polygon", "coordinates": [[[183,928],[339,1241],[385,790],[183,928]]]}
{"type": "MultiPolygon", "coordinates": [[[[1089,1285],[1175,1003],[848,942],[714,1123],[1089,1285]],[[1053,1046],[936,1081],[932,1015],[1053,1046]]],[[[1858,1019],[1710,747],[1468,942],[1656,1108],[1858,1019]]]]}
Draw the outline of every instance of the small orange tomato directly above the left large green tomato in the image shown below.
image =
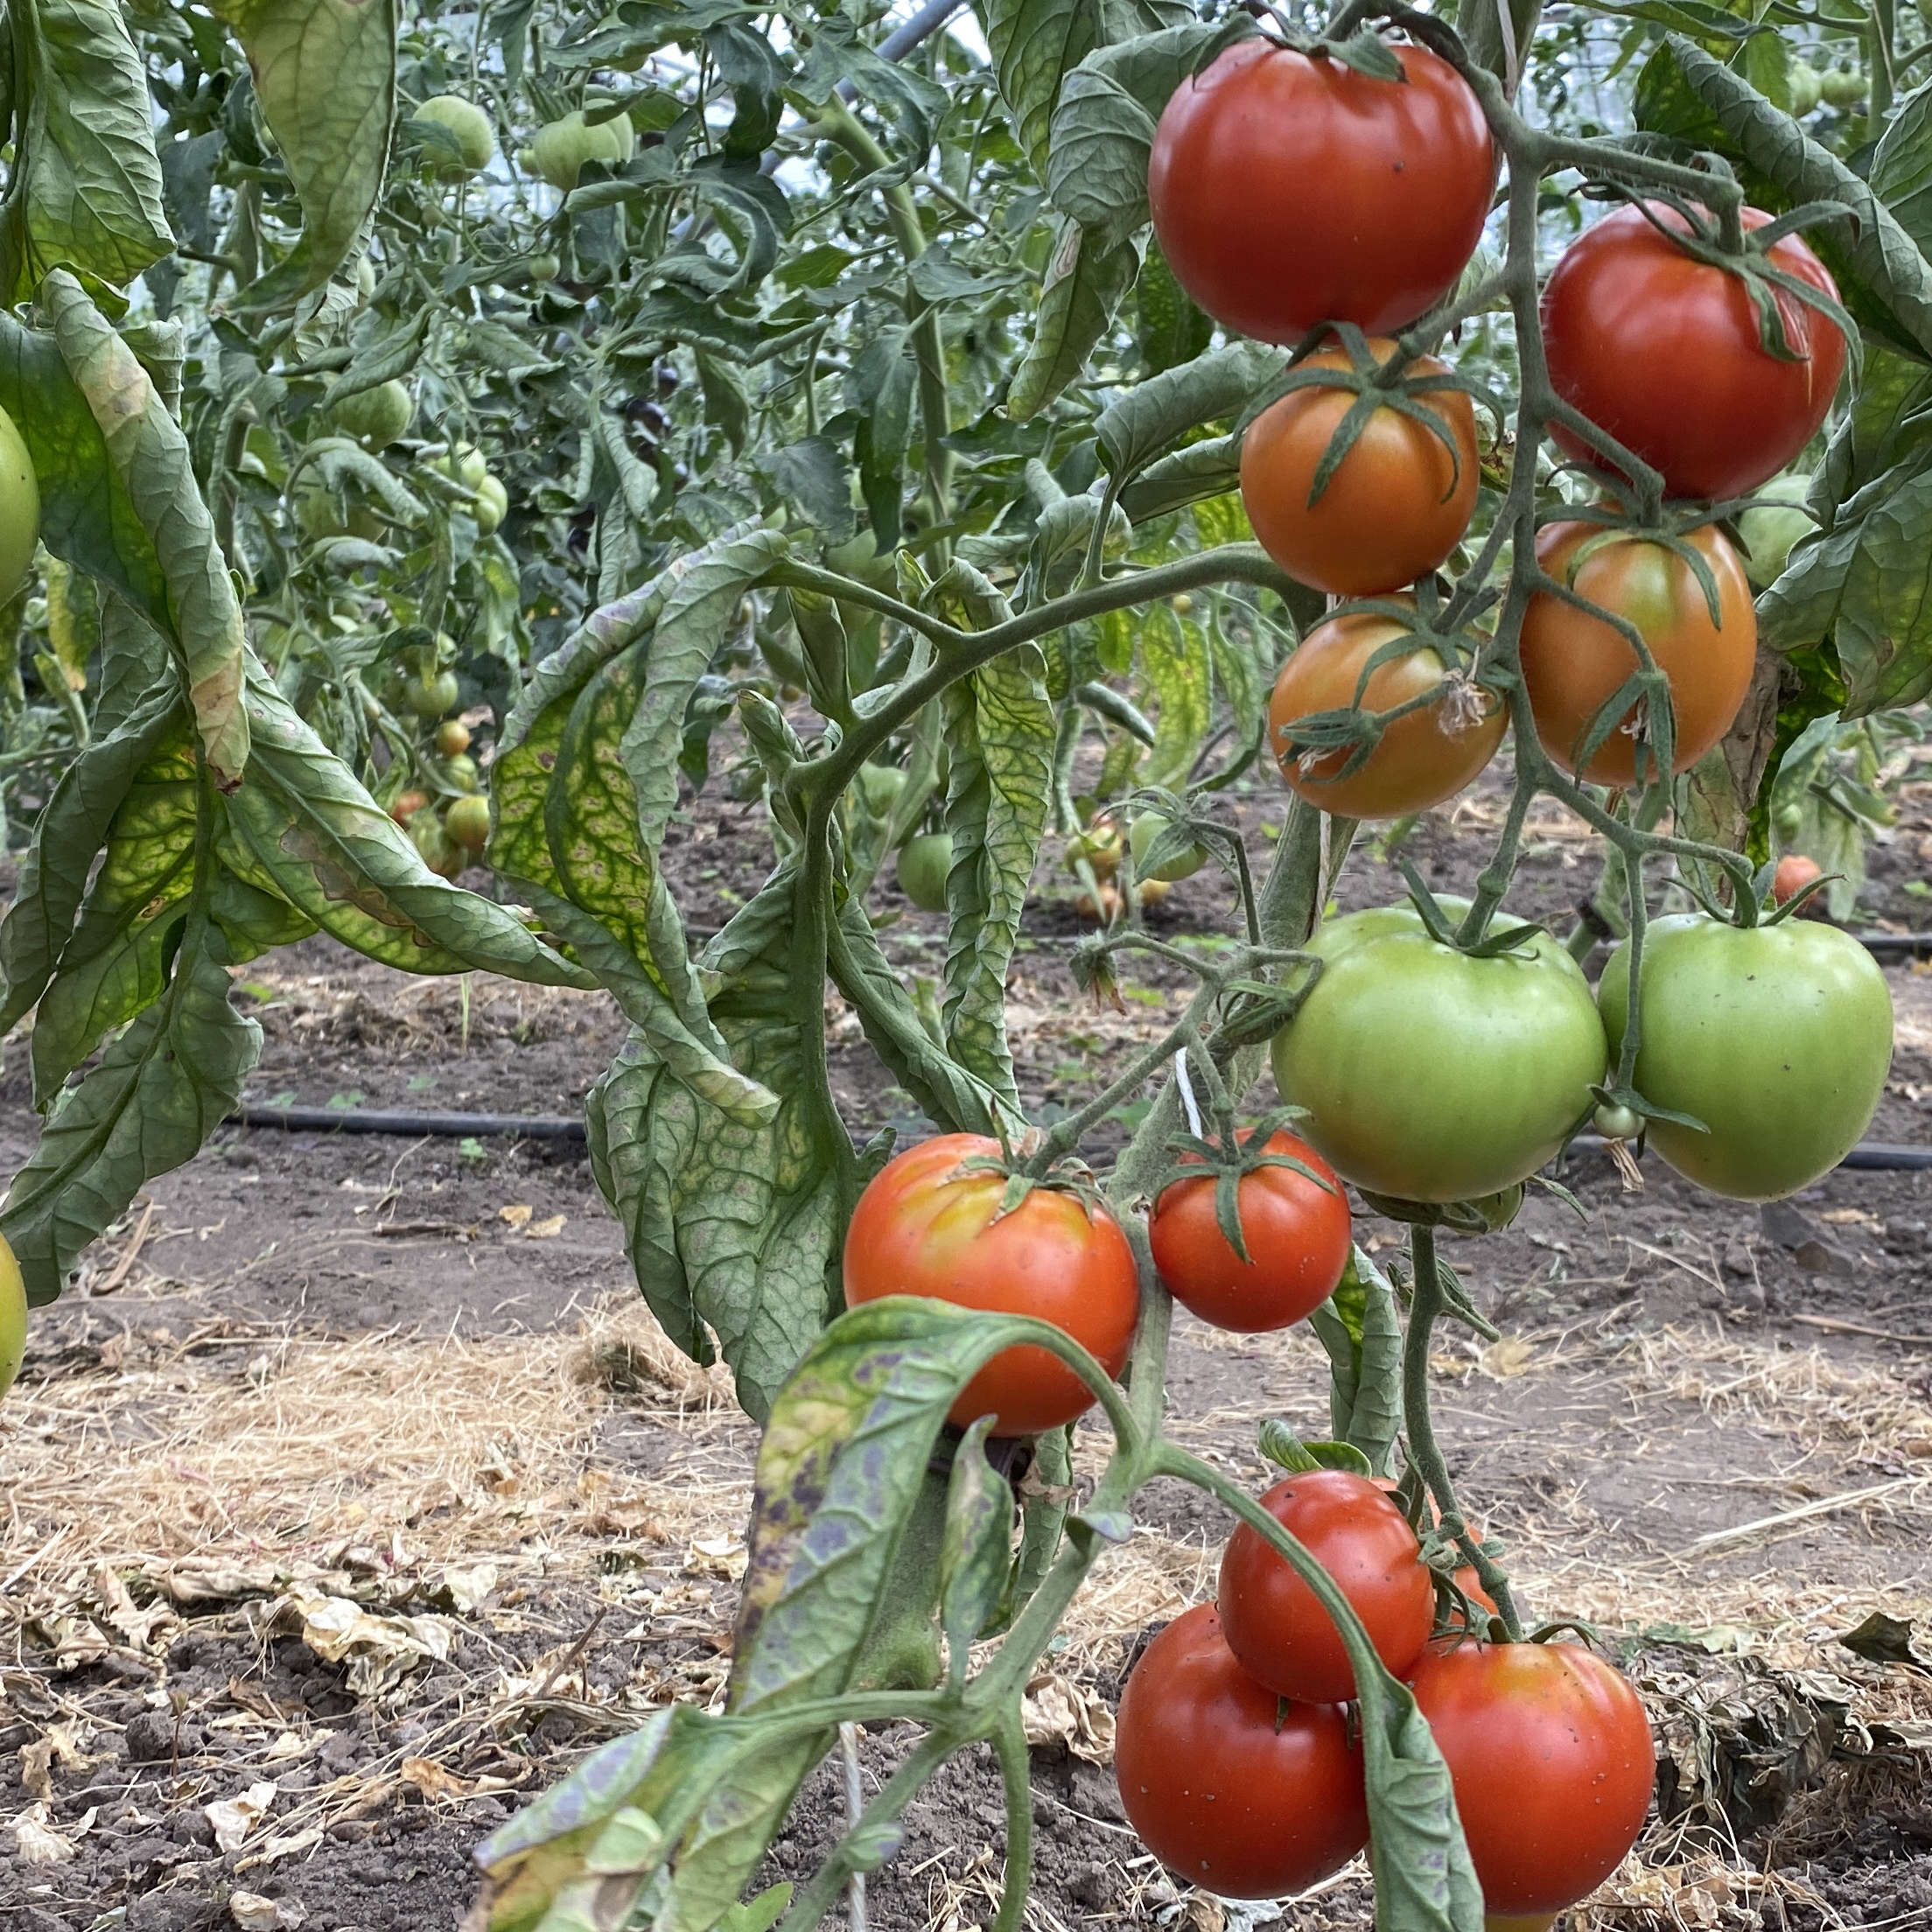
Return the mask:
{"type": "Polygon", "coordinates": [[[1267,742],[1291,792],[1347,819],[1399,819],[1455,798],[1503,742],[1503,707],[1490,692],[1457,680],[1443,696],[1383,726],[1381,742],[1347,777],[1352,748],[1310,752],[1294,724],[1318,711],[1393,711],[1435,690],[1449,667],[1428,645],[1391,657],[1368,672],[1368,661],[1403,636],[1395,618],[1354,614],[1316,624],[1281,667],[1267,705],[1267,742]]]}

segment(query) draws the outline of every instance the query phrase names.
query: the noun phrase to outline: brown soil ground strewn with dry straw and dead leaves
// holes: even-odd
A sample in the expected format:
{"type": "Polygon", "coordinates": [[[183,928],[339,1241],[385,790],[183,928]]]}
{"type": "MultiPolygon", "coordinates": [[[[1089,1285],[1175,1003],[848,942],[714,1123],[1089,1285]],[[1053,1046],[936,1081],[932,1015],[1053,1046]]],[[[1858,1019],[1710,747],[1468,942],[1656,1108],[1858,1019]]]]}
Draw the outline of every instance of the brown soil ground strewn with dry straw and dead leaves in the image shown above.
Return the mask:
{"type": "MultiPolygon", "coordinates": [[[[1872,916],[1901,929],[1932,925],[1913,891],[1932,873],[1928,794],[1907,788],[1874,862],[1872,916]]],[[[1277,796],[1235,806],[1260,848],[1277,796]]],[[[1478,794],[1406,850],[1461,883],[1495,815],[1478,794]]],[[[676,867],[694,925],[726,916],[761,862],[753,810],[707,796],[676,867]]],[[[1519,908],[1561,916],[1592,879],[1577,827],[1540,815],[1519,908]]],[[[1362,854],[1343,898],[1395,893],[1362,854]]],[[[939,923],[889,883],[877,904],[900,914],[887,943],[908,974],[937,972],[939,923]]],[[[1157,922],[1211,931],[1223,910],[1196,879],[1157,922]]],[[[1065,904],[1036,908],[1012,976],[1043,1107],[1173,1010],[1159,976],[1124,1014],[1084,1007],[1074,929],[1065,904]]],[[[269,1036],[259,1099],[570,1113],[622,1032],[601,997],[481,980],[466,997],[325,943],[242,978],[269,1036]]],[[[1926,1142],[1932,976],[1889,978],[1899,1057],[1874,1136],[1926,1142]]],[[[910,1126],[833,1020],[850,1124],[910,1126]]],[[[10,1047],[0,1165],[31,1138],[10,1047]]],[[[1538,1198],[1459,1250],[1505,1339],[1445,1335],[1441,1426],[1538,1613],[1633,1646],[1685,1781],[1737,1787],[1727,1810],[1654,1822],[1577,1928],[1932,1926],[1932,1679],[1835,1640],[1932,1602],[1932,1175],[1810,1190],[1810,1265],[1791,1231],[1654,1163],[1642,1194],[1602,1161],[1569,1179],[1588,1221],[1538,1198]],[[1845,1712],[1826,1762],[1820,1714],[1845,1712]]],[[[1321,1434],[1325,1366],[1300,1333],[1182,1320],[1173,1412],[1188,1445],[1260,1482],[1258,1422],[1321,1434]]],[[[726,1385],[630,1291],[582,1146],[224,1130],[37,1318],[0,1408],[0,1924],[454,1926],[489,1826],[639,1710],[719,1698],[752,1447],[726,1385]]],[[[1121,1818],[1119,1681],[1144,1629],[1209,1592],[1223,1536],[1192,1492],[1150,1492],[1047,1658],[1037,1932],[1368,1924],[1360,1870],[1281,1911],[1223,1913],[1121,1818]]],[[[904,1748],[902,1731],[867,1739],[867,1785],[904,1748]]],[[[773,1876],[810,1870],[837,1828],[821,1772],[773,1876]]],[[[985,1924],[1001,1847],[997,1777],[954,1766],[873,1876],[871,1926],[985,1924]]]]}

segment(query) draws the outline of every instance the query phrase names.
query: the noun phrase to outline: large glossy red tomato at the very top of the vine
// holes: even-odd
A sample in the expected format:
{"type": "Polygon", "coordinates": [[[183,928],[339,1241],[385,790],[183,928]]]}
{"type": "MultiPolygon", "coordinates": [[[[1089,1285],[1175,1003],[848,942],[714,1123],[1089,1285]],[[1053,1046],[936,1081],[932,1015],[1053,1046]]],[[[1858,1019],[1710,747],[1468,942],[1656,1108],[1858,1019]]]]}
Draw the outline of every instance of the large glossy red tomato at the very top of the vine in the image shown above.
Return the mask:
{"type": "Polygon", "coordinates": [[[1395,334],[1476,249],[1495,162],[1468,83],[1420,46],[1405,81],[1236,41],[1153,133],[1148,203],[1175,280],[1262,342],[1318,323],[1395,334]]]}

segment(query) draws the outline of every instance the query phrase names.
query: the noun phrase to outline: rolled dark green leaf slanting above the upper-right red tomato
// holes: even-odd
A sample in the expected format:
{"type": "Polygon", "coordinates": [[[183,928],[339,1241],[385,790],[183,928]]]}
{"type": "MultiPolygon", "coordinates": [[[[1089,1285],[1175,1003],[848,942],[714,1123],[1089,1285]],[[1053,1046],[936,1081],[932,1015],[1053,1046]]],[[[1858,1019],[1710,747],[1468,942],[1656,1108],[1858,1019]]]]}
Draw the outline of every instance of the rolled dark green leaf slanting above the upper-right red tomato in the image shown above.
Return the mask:
{"type": "Polygon", "coordinates": [[[1845,203],[1849,222],[1808,230],[1845,307],[1895,348],[1932,359],[1932,269],[1913,236],[1870,184],[1741,73],[1671,33],[1638,75],[1636,124],[1741,162],[1758,199],[1845,203]]]}

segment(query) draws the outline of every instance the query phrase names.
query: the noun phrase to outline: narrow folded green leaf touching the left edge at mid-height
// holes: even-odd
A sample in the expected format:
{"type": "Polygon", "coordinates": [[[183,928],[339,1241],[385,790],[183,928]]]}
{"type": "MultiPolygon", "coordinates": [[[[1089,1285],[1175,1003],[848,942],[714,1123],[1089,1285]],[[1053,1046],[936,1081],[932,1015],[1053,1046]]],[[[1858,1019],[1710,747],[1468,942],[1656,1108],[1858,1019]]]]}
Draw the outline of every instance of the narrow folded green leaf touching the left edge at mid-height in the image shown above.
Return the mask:
{"type": "Polygon", "coordinates": [[[10,1034],[46,991],[73,931],[95,854],[135,782],[168,734],[180,699],[153,690],[131,719],[85,746],[60,775],[19,867],[19,885],[0,922],[0,974],[6,1003],[0,1034],[10,1034]]]}

